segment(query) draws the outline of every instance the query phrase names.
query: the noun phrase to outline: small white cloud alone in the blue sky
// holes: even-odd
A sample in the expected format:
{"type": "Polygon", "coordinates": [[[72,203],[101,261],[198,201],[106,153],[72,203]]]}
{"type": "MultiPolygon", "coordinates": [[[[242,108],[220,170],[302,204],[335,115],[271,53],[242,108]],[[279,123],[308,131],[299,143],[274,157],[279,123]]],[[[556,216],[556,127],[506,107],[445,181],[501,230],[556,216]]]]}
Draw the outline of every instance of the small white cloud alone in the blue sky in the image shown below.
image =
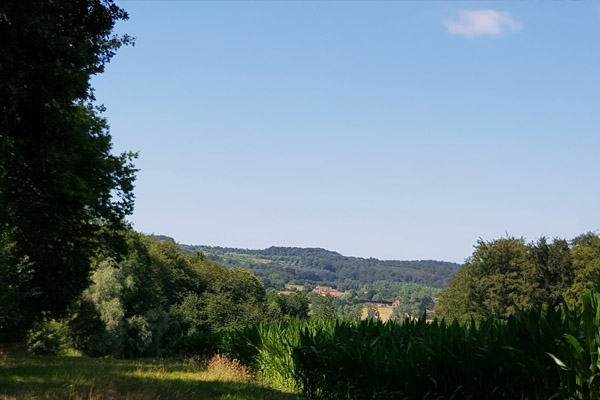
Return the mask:
{"type": "Polygon", "coordinates": [[[523,24],[506,11],[466,10],[458,14],[458,20],[446,20],[443,25],[448,32],[460,36],[498,36],[506,32],[518,32],[523,24]]]}

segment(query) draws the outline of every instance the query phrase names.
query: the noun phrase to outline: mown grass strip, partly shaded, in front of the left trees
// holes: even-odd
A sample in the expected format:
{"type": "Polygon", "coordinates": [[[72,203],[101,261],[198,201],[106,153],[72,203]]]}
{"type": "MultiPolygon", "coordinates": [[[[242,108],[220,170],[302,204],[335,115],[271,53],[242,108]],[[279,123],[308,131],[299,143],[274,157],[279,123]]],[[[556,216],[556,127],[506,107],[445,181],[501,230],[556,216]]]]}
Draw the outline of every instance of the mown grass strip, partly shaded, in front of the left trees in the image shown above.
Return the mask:
{"type": "Polygon", "coordinates": [[[299,399],[257,382],[245,367],[210,361],[32,356],[0,349],[0,399],[299,399]]]}

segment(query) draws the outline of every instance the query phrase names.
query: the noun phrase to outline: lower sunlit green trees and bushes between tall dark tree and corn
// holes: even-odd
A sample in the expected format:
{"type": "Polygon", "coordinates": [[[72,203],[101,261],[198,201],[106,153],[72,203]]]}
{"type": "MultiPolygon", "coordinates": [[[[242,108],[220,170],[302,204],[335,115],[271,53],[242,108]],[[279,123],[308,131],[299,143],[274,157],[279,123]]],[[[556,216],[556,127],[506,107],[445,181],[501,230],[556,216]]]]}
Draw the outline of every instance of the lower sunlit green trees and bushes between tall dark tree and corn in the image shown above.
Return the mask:
{"type": "Polygon", "coordinates": [[[86,354],[204,354],[214,347],[212,333],[267,318],[265,289],[250,272],[186,256],[172,241],[132,231],[126,239],[119,261],[95,262],[92,284],[71,310],[69,324],[86,354]]]}

